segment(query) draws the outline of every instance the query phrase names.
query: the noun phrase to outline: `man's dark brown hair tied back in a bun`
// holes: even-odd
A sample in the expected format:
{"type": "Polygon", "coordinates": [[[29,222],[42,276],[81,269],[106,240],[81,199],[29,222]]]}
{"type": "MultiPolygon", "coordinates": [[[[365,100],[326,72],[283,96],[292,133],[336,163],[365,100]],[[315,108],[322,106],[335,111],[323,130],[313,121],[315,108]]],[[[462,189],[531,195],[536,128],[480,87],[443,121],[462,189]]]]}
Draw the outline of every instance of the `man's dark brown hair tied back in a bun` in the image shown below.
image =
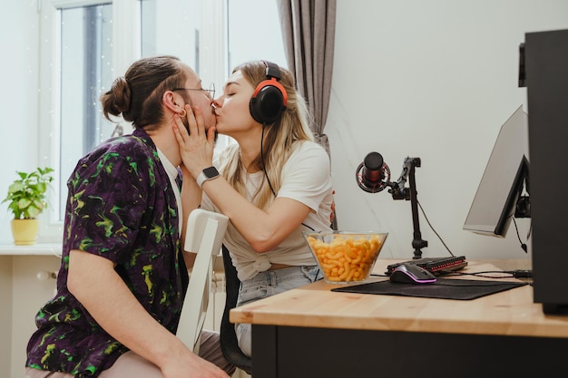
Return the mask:
{"type": "Polygon", "coordinates": [[[182,87],[186,81],[179,58],[170,55],[142,58],[128,68],[124,76],[114,80],[110,91],[101,96],[104,117],[110,115],[132,121],[142,129],[162,120],[162,94],[167,89],[182,87]]]}

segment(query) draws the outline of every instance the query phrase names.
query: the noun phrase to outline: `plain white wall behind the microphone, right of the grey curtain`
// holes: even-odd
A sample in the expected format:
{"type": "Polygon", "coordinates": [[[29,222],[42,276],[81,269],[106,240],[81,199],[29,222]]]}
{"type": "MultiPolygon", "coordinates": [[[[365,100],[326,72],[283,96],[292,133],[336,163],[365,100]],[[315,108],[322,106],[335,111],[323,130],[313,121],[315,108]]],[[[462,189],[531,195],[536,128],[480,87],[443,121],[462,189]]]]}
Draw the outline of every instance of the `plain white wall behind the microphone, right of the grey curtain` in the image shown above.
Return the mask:
{"type": "MultiPolygon", "coordinates": [[[[462,229],[502,123],[521,105],[518,46],[527,32],[568,28],[565,0],[338,1],[328,134],[338,227],[387,231],[382,257],[412,257],[410,202],[359,189],[380,152],[396,180],[419,157],[418,200],[455,255],[522,258],[507,237],[462,229]]],[[[526,239],[528,220],[520,219],[526,239]]],[[[449,256],[420,215],[425,257],[449,256]]],[[[530,254],[529,254],[530,256],[530,254]]]]}

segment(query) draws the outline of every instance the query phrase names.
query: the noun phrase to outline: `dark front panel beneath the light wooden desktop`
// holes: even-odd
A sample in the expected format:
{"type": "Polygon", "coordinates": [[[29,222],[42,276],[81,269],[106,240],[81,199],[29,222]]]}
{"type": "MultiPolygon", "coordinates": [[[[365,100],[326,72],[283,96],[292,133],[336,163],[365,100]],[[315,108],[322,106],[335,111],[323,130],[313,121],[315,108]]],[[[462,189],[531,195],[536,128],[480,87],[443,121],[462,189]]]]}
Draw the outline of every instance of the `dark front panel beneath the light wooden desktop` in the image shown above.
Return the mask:
{"type": "Polygon", "coordinates": [[[252,377],[561,376],[567,347],[566,338],[253,325],[252,377]]]}

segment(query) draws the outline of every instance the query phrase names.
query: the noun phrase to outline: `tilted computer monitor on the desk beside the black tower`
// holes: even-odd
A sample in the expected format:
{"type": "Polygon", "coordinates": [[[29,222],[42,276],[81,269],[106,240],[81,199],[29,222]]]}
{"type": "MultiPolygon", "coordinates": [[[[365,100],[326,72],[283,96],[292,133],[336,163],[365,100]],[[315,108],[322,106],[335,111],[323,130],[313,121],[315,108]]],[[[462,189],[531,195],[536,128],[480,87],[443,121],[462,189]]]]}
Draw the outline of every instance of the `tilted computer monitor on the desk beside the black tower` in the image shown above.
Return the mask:
{"type": "Polygon", "coordinates": [[[524,182],[528,182],[528,151],[528,116],[520,106],[501,126],[465,218],[465,230],[494,237],[506,236],[524,182]]]}

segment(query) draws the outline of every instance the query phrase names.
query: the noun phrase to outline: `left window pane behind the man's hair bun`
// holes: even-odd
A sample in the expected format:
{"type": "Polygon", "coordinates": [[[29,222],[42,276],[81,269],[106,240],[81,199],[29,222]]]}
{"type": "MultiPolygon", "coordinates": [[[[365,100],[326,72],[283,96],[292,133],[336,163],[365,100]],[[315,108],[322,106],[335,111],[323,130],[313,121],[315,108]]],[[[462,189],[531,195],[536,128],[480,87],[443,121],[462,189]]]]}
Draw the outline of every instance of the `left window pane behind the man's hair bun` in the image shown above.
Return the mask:
{"type": "MultiPolygon", "coordinates": [[[[113,82],[113,6],[88,5],[58,10],[61,19],[61,157],[57,170],[71,172],[77,159],[108,139],[114,125],[103,119],[99,97],[113,82]]],[[[58,177],[66,188],[69,174],[58,177]]],[[[66,190],[59,190],[59,219],[66,190]]]]}

